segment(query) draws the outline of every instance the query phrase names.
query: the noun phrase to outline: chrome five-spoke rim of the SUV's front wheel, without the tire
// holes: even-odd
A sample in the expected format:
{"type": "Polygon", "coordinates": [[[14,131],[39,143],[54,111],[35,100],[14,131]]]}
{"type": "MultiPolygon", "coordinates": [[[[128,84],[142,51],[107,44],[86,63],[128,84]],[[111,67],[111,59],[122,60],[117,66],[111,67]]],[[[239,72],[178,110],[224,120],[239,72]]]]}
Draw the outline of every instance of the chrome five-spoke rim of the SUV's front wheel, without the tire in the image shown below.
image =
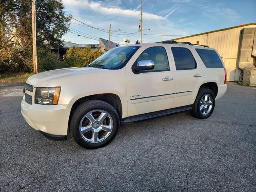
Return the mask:
{"type": "Polygon", "coordinates": [[[79,131],[84,140],[98,143],[106,139],[113,128],[110,114],[104,110],[88,112],[80,121],[79,131]]]}

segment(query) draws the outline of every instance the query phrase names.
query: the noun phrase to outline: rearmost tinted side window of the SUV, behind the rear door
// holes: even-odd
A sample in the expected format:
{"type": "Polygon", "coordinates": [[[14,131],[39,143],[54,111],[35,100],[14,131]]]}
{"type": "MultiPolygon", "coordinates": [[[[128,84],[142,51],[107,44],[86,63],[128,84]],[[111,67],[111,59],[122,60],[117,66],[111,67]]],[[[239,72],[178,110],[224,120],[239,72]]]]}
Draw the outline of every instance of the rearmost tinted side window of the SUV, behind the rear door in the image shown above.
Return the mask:
{"type": "Polygon", "coordinates": [[[223,68],[220,57],[214,50],[196,49],[206,68],[223,68]]]}

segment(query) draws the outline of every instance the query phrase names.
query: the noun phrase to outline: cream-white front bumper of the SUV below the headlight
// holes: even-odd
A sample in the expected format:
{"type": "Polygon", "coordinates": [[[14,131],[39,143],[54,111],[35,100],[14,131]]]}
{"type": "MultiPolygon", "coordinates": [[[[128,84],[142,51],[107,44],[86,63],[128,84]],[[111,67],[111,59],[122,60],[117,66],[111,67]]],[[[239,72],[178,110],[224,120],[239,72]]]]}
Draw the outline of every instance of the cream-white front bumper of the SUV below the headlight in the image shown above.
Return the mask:
{"type": "MultiPolygon", "coordinates": [[[[28,104],[25,96],[21,102],[21,114],[26,122],[35,130],[38,130],[47,138],[56,137],[62,139],[68,133],[68,119],[72,105],[41,105],[28,104]]],[[[52,139],[51,138],[51,139],[52,139]]],[[[56,140],[56,139],[54,139],[56,140]]]]}

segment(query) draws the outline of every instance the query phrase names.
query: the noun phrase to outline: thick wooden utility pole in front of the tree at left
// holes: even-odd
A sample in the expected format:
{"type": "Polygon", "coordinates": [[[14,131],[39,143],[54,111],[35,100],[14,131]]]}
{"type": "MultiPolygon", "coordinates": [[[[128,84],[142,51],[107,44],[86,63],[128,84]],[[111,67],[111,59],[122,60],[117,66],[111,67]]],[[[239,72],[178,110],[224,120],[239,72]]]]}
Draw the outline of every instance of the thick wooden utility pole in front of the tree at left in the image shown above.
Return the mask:
{"type": "Polygon", "coordinates": [[[36,56],[36,5],[35,0],[32,0],[32,38],[33,38],[33,65],[34,74],[37,73],[37,56],[36,56]]]}

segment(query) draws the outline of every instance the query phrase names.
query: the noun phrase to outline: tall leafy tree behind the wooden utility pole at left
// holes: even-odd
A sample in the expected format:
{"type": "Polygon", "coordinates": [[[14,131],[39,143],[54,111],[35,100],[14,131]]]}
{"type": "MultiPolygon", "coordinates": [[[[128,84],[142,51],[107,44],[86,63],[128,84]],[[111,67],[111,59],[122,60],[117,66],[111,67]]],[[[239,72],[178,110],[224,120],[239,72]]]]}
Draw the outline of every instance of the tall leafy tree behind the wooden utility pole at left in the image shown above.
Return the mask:
{"type": "MultiPolygon", "coordinates": [[[[32,0],[0,0],[0,3],[0,72],[30,70],[32,0]]],[[[49,49],[49,46],[62,46],[61,38],[68,31],[70,19],[61,1],[36,0],[37,48],[43,50],[49,49]]],[[[49,51],[45,53],[52,56],[49,51]]],[[[43,58],[42,54],[38,60],[43,58]]]]}

